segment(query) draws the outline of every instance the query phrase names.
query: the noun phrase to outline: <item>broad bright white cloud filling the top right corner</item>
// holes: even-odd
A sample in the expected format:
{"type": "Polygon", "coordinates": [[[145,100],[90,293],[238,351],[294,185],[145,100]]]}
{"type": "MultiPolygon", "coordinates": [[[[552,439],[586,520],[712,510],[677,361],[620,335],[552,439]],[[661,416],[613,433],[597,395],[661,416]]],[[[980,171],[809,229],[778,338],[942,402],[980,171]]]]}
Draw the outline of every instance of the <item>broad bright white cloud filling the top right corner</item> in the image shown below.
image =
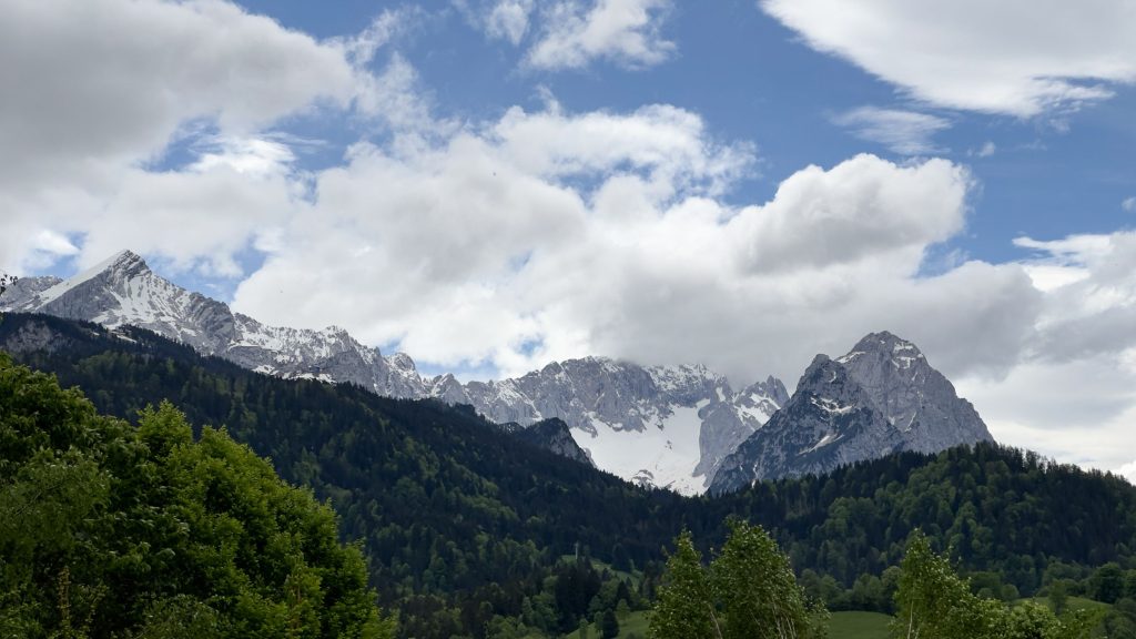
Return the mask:
{"type": "Polygon", "coordinates": [[[812,48],[932,105],[1014,116],[1108,98],[1136,82],[1125,0],[762,0],[812,48]]]}

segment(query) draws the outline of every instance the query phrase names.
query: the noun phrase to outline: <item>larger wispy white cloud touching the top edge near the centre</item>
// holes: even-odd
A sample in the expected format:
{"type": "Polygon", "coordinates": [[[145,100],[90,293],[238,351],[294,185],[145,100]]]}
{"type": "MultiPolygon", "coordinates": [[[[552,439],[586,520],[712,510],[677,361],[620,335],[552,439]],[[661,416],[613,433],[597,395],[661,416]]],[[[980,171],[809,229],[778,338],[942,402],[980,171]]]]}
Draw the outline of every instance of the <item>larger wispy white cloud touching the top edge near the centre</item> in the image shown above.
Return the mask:
{"type": "Polygon", "coordinates": [[[595,59],[637,68],[675,50],[661,33],[671,0],[561,0],[544,11],[540,40],[526,63],[542,69],[582,68],[595,59]]]}

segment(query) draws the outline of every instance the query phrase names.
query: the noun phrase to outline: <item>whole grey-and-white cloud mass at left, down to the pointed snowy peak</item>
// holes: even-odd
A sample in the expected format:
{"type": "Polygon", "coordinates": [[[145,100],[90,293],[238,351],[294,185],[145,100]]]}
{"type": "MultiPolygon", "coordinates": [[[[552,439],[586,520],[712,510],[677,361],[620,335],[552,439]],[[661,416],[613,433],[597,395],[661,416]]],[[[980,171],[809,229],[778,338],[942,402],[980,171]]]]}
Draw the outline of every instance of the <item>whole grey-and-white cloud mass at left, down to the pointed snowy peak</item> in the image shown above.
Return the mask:
{"type": "Polygon", "coordinates": [[[222,0],[7,3],[0,266],[23,272],[76,247],[90,264],[130,246],[237,274],[235,252],[304,189],[295,141],[275,123],[356,105],[400,125],[420,118],[420,105],[390,99],[414,81],[399,60],[379,76],[362,68],[396,18],[318,42],[222,0]],[[195,158],[159,168],[173,144],[195,158]]]}

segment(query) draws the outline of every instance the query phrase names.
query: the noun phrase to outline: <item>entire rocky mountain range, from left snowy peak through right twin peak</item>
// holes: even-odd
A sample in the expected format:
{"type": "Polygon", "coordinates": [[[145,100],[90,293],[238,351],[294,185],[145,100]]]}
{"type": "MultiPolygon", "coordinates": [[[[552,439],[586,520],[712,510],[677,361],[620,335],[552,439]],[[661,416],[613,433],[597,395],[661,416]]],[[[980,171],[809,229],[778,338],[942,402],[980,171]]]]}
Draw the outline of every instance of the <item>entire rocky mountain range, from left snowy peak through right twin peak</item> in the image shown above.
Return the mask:
{"type": "Polygon", "coordinates": [[[252,371],[468,404],[498,423],[560,418],[598,467],[685,495],[897,450],[991,440],[950,382],[913,345],[888,333],[868,335],[838,360],[818,358],[790,398],[771,376],[735,390],[701,365],[640,366],[603,357],[551,363],[501,381],[424,377],[407,355],[384,356],[343,329],[266,326],[234,313],[160,277],[131,251],[67,280],[20,280],[0,308],[132,324],[252,371]]]}

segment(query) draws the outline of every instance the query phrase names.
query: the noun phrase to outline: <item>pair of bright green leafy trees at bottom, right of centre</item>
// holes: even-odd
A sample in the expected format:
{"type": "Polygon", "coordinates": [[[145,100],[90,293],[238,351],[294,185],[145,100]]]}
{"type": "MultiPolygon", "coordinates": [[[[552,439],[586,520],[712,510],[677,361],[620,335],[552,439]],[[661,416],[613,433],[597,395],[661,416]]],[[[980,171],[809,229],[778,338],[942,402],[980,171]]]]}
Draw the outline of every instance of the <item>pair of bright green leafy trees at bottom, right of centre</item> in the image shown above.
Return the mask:
{"type": "Polygon", "coordinates": [[[761,526],[729,523],[709,573],[688,532],[676,539],[668,584],[651,616],[651,637],[785,639],[824,637],[827,613],[805,604],[788,558],[761,526]]]}

